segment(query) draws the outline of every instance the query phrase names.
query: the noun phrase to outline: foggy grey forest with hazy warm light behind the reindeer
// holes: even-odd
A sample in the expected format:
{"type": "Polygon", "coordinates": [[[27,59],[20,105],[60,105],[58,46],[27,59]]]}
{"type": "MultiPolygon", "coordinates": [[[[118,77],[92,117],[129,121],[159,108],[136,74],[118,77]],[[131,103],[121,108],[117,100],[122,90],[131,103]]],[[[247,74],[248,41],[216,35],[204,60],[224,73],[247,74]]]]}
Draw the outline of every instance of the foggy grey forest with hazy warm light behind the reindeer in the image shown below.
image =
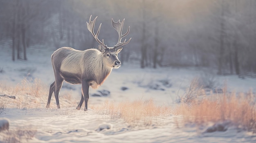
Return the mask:
{"type": "Polygon", "coordinates": [[[97,48],[90,15],[108,46],[118,40],[111,18],[126,19],[132,40],[119,53],[124,64],[256,73],[256,0],[0,0],[0,46],[13,61],[29,60],[28,48],[97,48]]]}

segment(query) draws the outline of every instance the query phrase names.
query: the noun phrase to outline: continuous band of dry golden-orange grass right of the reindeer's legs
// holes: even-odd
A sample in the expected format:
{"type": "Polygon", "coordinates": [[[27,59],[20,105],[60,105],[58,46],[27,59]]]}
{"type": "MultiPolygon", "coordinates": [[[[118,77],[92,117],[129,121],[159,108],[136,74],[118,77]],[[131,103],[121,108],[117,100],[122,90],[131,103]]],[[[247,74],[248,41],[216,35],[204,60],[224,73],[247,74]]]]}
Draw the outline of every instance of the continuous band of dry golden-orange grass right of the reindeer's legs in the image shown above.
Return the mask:
{"type": "Polygon", "coordinates": [[[99,114],[110,115],[112,119],[124,119],[131,126],[159,124],[161,121],[157,119],[175,114],[183,117],[177,118],[177,126],[182,122],[202,125],[228,120],[239,128],[256,132],[256,95],[251,91],[229,93],[226,89],[225,86],[222,93],[211,92],[206,95],[198,84],[198,79],[194,79],[174,110],[171,107],[157,106],[153,100],[126,101],[119,104],[106,101],[94,110],[99,114]]]}

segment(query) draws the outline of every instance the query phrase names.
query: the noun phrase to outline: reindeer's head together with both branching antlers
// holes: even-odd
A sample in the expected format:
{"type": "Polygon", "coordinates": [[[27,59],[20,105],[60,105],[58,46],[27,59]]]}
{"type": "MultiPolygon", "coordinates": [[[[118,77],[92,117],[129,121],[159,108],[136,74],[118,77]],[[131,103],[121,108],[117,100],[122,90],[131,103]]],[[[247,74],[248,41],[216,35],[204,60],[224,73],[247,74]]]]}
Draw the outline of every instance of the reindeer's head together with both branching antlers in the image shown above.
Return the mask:
{"type": "Polygon", "coordinates": [[[130,38],[127,42],[125,39],[124,42],[121,42],[122,38],[128,35],[130,31],[130,26],[128,27],[128,31],[125,34],[122,34],[124,20],[122,22],[120,22],[120,20],[118,20],[118,22],[114,22],[114,20],[112,19],[112,26],[118,32],[119,39],[117,44],[115,44],[114,47],[108,47],[107,45],[104,44],[103,39],[102,39],[102,42],[98,39],[99,31],[101,29],[101,24],[99,25],[99,29],[97,33],[96,34],[94,33],[94,25],[97,17],[94,18],[94,20],[92,21],[91,21],[91,18],[92,18],[92,15],[90,16],[89,23],[87,22],[87,28],[92,33],[95,40],[97,40],[97,42],[99,43],[98,48],[99,48],[99,51],[102,53],[103,61],[109,67],[119,68],[121,66],[121,62],[118,59],[118,53],[123,49],[122,46],[128,44],[132,39],[130,38]]]}

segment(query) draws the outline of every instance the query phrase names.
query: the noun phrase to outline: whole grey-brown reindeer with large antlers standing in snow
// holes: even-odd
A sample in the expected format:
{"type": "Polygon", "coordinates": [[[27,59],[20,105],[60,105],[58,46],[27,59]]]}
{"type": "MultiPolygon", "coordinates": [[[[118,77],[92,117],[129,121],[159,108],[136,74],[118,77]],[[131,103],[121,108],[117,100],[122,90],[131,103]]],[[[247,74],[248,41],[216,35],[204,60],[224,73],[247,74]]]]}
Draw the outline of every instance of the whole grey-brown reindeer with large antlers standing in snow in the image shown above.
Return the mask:
{"type": "Polygon", "coordinates": [[[52,67],[54,70],[55,81],[51,84],[49,89],[49,97],[46,108],[49,108],[52,93],[56,99],[57,108],[60,108],[58,94],[61,90],[63,81],[70,84],[82,84],[82,95],[81,101],[76,107],[80,110],[83,102],[85,102],[84,110],[87,111],[88,99],[89,99],[89,87],[96,89],[108,77],[113,68],[119,68],[121,62],[118,59],[118,53],[122,50],[122,46],[128,44],[131,38],[124,42],[121,42],[122,38],[128,35],[130,26],[125,34],[122,34],[124,26],[124,20],[120,22],[114,22],[112,19],[112,26],[118,32],[119,39],[114,47],[108,47],[104,44],[104,40],[98,39],[101,24],[97,33],[94,33],[94,25],[97,19],[91,21],[92,15],[90,16],[89,23],[87,23],[88,30],[92,33],[95,40],[99,43],[99,49],[88,49],[85,51],[75,50],[70,47],[62,47],[54,51],[52,54],[52,67]]]}

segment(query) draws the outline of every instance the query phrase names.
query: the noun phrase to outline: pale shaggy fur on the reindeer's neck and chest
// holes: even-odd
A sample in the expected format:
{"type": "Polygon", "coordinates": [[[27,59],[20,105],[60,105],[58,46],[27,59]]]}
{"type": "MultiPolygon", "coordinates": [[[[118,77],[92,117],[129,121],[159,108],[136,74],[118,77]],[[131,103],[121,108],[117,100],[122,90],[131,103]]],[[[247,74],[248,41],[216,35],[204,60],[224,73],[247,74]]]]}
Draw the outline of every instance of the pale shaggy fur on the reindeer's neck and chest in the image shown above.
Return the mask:
{"type": "Polygon", "coordinates": [[[99,52],[95,55],[92,63],[90,64],[91,72],[93,73],[93,80],[89,83],[92,88],[98,88],[101,86],[112,71],[112,67],[107,66],[104,62],[103,55],[99,52]]]}

